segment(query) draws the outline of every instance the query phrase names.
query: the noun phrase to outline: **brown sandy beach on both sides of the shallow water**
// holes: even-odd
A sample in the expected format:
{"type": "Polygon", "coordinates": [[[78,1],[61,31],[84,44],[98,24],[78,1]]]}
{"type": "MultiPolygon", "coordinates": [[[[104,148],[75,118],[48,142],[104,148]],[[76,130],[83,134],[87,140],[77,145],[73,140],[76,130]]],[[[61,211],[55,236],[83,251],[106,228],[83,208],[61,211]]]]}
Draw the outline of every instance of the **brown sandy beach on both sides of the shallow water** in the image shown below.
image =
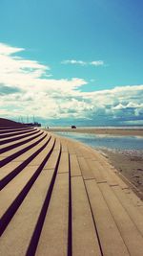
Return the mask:
{"type": "MultiPolygon", "coordinates": [[[[50,128],[52,132],[77,132],[87,134],[115,136],[143,136],[143,129],[123,128],[50,128]]],[[[66,133],[65,133],[66,134],[66,133]]],[[[137,150],[99,150],[118,174],[133,187],[140,198],[143,198],[143,151],[137,150]]]]}

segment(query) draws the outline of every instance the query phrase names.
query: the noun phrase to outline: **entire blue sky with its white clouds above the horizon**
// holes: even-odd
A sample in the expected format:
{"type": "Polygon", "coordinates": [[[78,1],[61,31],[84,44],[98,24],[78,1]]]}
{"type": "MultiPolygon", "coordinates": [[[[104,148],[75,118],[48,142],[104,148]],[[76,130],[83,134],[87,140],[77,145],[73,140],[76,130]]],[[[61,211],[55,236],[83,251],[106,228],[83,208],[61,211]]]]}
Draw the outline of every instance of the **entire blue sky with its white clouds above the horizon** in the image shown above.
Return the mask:
{"type": "Polygon", "coordinates": [[[0,0],[0,117],[143,125],[141,0],[0,0]]]}

